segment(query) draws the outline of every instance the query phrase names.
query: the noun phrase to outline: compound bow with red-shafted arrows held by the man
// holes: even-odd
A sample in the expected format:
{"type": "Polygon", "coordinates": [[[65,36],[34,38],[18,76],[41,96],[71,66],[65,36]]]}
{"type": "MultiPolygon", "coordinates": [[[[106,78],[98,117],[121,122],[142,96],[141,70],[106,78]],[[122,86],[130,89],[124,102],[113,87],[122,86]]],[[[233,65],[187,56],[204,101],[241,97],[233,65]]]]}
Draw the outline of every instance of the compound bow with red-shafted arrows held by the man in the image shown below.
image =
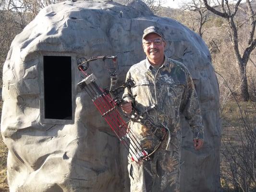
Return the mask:
{"type": "MultiPolygon", "coordinates": [[[[105,64],[106,65],[106,64],[105,64]]],[[[115,133],[119,141],[124,145],[126,150],[129,152],[129,156],[133,161],[140,160],[149,160],[150,156],[159,148],[162,140],[166,136],[166,130],[164,128],[159,128],[154,125],[152,120],[148,116],[148,111],[153,110],[156,106],[151,106],[146,109],[143,113],[138,113],[134,108],[132,115],[125,115],[122,110],[120,110],[120,105],[124,104],[125,101],[120,99],[118,95],[126,87],[133,87],[134,82],[128,80],[123,83],[121,86],[117,87],[117,56],[98,56],[92,57],[88,60],[85,58],[80,58],[77,61],[77,67],[85,77],[83,80],[78,83],[78,86],[81,89],[84,89],[86,93],[92,99],[95,107],[100,112],[101,116],[110,126],[111,130],[115,133]],[[113,66],[108,67],[108,72],[110,74],[110,89],[102,89],[96,84],[97,77],[92,73],[86,73],[85,71],[89,67],[89,62],[102,59],[105,64],[106,59],[111,59],[113,66]],[[153,151],[147,151],[143,146],[141,146],[139,137],[128,127],[128,122],[125,122],[122,119],[122,116],[125,116],[130,119],[130,121],[139,122],[151,129],[153,134],[158,138],[159,142],[154,147],[153,151]]]]}

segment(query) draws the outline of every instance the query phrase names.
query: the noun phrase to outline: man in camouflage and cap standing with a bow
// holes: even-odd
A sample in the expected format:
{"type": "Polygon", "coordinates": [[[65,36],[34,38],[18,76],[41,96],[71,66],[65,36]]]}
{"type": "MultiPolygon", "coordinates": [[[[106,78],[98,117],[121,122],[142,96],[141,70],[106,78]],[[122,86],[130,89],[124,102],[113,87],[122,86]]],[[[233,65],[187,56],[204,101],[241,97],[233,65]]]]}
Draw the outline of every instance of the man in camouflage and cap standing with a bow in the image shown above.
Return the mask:
{"type": "MultiPolygon", "coordinates": [[[[164,55],[165,38],[157,26],[144,30],[142,37],[146,60],[133,65],[126,80],[132,79],[134,87],[126,88],[122,109],[132,112],[132,103],[138,111],[156,105],[148,111],[154,124],[168,130],[168,137],[161,142],[150,160],[134,162],[129,159],[128,171],[131,192],[179,192],[182,131],[180,113],[188,120],[193,132],[195,150],[203,145],[202,117],[192,77],[180,62],[164,55]]],[[[148,152],[154,151],[158,139],[150,128],[131,122],[130,128],[148,152]]]]}

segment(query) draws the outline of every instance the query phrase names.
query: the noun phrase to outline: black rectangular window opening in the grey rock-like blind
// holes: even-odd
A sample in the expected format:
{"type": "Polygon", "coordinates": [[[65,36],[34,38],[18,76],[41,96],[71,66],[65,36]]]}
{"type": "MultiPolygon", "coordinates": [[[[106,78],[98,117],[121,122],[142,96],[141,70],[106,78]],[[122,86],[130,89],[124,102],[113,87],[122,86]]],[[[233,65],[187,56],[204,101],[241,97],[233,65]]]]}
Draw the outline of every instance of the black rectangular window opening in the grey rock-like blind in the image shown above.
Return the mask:
{"type": "Polygon", "coordinates": [[[45,119],[72,120],[71,57],[44,56],[45,119]]]}

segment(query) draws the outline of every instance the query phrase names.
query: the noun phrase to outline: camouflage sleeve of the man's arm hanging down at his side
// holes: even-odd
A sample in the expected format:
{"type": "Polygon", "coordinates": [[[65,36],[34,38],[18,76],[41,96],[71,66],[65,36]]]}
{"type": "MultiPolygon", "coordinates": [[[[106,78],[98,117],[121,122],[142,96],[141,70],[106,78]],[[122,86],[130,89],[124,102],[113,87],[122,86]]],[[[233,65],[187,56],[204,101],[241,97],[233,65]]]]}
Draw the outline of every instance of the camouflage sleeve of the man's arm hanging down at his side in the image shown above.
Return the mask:
{"type": "Polygon", "coordinates": [[[193,139],[204,140],[204,127],[199,101],[195,92],[195,86],[191,75],[188,73],[186,86],[183,94],[182,112],[188,120],[193,132],[193,139]]]}

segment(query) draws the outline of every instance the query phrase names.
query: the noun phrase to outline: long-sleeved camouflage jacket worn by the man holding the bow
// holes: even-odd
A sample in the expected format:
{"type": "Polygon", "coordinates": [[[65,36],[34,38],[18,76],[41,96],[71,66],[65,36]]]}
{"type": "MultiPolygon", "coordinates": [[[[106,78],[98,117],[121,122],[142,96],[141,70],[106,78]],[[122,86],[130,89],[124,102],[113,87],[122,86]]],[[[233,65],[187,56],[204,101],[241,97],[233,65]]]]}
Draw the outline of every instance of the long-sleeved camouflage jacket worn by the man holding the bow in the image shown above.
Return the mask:
{"type": "MultiPolygon", "coordinates": [[[[181,134],[180,114],[183,113],[193,138],[204,139],[193,80],[182,63],[165,57],[163,65],[154,68],[147,59],[142,60],[127,72],[128,79],[132,79],[135,85],[124,90],[123,99],[132,100],[140,112],[157,104],[156,109],[148,112],[155,125],[168,128],[172,135],[181,134]]],[[[143,141],[143,146],[150,148],[150,142],[147,144],[145,141],[155,140],[152,132],[138,122],[131,122],[130,128],[143,141]]]]}

